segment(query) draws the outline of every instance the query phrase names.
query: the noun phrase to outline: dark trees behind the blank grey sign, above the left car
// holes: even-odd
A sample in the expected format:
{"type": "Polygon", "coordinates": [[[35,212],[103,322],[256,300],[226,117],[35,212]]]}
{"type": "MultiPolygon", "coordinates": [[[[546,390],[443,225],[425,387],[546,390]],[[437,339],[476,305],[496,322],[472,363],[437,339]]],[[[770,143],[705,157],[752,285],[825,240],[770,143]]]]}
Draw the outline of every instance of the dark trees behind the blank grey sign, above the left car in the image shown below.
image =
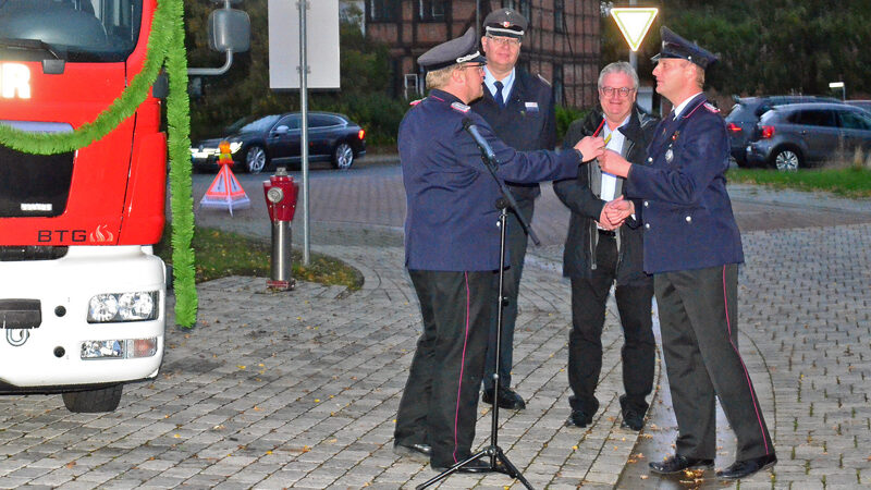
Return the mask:
{"type": "MultiPolygon", "coordinates": [[[[208,48],[206,22],[213,8],[209,2],[185,1],[189,66],[223,64],[223,54],[208,48]]],[[[267,0],[245,0],[237,8],[250,16],[250,50],[235,53],[228,73],[200,78],[201,95],[191,105],[194,139],[217,136],[221,127],[242,117],[299,110],[298,91],[269,88],[267,0]]],[[[388,48],[364,38],[357,22],[361,14],[352,5],[340,20],[342,89],[310,94],[309,109],[344,113],[366,128],[371,143],[391,143],[406,105],[387,95],[391,79],[388,48]]]]}

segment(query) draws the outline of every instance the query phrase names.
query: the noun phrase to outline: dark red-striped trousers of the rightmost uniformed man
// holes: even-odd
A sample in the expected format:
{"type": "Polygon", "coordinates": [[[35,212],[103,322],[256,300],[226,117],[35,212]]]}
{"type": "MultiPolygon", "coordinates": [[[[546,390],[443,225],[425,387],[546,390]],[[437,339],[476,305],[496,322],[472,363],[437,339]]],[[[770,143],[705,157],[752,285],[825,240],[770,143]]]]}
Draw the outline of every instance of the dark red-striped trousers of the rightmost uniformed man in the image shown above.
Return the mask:
{"type": "Polygon", "coordinates": [[[736,461],[774,454],[738,352],[738,266],[658,273],[654,286],[677,419],[676,453],[714,458],[720,399],[738,440],[736,461]]]}

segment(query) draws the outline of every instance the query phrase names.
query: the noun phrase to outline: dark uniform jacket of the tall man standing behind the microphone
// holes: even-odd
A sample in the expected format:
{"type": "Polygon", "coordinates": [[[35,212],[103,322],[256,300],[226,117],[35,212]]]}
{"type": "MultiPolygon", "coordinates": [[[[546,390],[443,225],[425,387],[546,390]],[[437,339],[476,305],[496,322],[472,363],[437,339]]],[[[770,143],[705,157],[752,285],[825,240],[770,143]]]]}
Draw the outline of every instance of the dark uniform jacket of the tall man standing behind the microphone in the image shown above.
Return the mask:
{"type": "MultiPolygon", "coordinates": [[[[518,151],[553,149],[556,147],[556,115],[553,90],[543,79],[515,68],[514,86],[502,109],[490,89],[471,103],[471,109],[490,124],[496,137],[518,151]]],[[[517,203],[532,200],[541,191],[537,183],[508,183],[517,203]]]]}

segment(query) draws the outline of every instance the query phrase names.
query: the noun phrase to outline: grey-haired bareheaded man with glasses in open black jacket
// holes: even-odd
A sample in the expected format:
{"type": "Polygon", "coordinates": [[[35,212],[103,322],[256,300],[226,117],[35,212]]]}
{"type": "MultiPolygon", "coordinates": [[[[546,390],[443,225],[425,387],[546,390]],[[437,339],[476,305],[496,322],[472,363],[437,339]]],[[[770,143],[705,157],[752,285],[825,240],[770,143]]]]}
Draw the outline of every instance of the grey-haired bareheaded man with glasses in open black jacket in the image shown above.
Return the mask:
{"type": "MultiPolygon", "coordinates": [[[[636,105],[638,75],[626,62],[611,63],[599,75],[600,109],[568,128],[565,145],[585,136],[602,137],[606,147],[628,161],[647,163],[647,145],[658,120],[636,105]]],[[[599,408],[594,396],[602,368],[605,303],[616,281],[615,296],[625,336],[619,399],[625,428],[641,430],[653,389],[655,344],[651,324],[653,279],[643,272],[643,230],[634,217],[612,222],[609,201],[622,199],[624,179],[587,166],[577,179],[554,183],[560,199],[572,210],[563,255],[563,274],[572,280],[572,333],[568,340],[568,384],[573,396],[566,425],[587,427],[599,408]]]]}

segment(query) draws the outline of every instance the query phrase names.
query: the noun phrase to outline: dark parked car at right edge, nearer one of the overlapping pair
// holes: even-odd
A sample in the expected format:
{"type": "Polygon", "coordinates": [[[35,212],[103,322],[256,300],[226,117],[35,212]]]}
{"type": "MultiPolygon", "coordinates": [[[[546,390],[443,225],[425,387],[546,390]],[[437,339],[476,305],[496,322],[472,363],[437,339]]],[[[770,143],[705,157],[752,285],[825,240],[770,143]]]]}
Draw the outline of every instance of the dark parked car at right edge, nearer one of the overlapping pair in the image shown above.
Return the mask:
{"type": "Polygon", "coordinates": [[[778,106],[759,120],[746,157],[777,170],[796,170],[871,148],[871,114],[844,103],[778,106]]]}

